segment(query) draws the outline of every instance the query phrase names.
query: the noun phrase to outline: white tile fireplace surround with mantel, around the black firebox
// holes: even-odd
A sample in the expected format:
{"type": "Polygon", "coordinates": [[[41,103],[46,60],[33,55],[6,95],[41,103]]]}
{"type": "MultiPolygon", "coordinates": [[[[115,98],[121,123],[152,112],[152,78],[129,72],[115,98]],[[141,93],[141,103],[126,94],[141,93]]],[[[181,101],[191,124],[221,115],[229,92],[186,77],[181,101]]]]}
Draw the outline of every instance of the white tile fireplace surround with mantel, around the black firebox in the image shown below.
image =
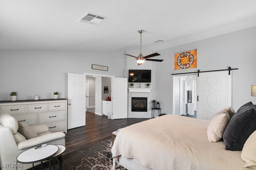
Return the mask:
{"type": "Polygon", "coordinates": [[[151,88],[128,88],[128,117],[129,118],[151,118],[151,88]],[[147,98],[148,111],[132,111],[133,98],[147,98]]]}

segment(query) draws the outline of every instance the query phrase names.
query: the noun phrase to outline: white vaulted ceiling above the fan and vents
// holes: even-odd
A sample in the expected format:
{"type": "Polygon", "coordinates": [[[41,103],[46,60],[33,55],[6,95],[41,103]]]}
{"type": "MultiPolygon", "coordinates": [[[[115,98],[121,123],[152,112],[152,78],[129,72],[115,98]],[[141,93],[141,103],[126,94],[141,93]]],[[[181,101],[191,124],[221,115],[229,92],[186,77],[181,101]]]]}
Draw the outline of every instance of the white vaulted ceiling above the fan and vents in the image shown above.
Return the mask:
{"type": "Polygon", "coordinates": [[[254,26],[256,0],[0,0],[0,50],[127,51],[144,29],[157,51],[254,26]],[[77,22],[86,12],[108,19],[77,22]]]}

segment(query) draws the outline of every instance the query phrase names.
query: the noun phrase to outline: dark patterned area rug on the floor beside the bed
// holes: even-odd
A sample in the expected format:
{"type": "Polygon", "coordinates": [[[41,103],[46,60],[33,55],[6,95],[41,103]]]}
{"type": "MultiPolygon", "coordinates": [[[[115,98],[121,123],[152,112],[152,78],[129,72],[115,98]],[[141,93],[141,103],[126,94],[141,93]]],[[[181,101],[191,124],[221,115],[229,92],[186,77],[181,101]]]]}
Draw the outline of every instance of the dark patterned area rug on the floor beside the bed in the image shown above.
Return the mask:
{"type": "MultiPolygon", "coordinates": [[[[62,170],[112,170],[113,160],[111,148],[112,140],[107,139],[92,146],[63,154],[62,170]]],[[[48,164],[44,163],[43,169],[48,169],[47,166],[48,164]]],[[[34,169],[40,169],[40,166],[36,166],[34,169]]],[[[60,169],[58,161],[56,161],[56,169],[60,169]]],[[[126,169],[118,166],[117,170],[126,169]]]]}

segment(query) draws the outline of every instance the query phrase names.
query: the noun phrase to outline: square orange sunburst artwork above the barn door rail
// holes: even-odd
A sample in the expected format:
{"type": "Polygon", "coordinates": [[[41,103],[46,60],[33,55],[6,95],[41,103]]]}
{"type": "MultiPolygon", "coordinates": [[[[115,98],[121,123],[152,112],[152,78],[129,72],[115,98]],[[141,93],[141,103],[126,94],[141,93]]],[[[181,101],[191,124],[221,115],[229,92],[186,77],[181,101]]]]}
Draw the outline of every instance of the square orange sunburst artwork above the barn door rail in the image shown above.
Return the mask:
{"type": "Polygon", "coordinates": [[[174,54],[174,70],[196,68],[197,49],[174,54]]]}

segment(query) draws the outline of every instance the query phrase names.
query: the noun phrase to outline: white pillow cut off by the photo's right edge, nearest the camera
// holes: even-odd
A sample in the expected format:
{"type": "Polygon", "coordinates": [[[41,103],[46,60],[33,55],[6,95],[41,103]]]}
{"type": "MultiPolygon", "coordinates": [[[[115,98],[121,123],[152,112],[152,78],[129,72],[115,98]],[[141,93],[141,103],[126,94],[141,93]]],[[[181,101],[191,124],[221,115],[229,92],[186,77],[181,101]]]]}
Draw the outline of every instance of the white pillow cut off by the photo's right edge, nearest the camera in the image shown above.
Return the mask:
{"type": "Polygon", "coordinates": [[[244,167],[256,169],[256,131],[254,131],[244,143],[241,158],[246,162],[244,167]]]}

